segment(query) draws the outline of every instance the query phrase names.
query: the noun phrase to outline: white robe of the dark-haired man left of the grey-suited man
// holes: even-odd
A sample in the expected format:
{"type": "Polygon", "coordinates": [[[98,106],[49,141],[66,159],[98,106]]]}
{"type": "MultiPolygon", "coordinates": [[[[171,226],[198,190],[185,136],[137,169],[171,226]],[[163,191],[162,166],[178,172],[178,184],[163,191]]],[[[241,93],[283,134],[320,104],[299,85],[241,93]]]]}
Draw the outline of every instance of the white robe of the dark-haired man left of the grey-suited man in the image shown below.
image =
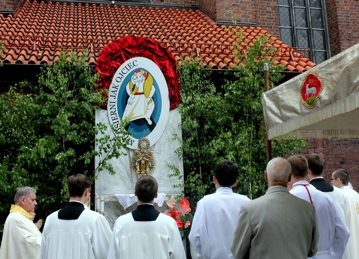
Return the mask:
{"type": "Polygon", "coordinates": [[[233,259],[233,233],[241,206],[248,201],[228,187],[220,187],[198,201],[188,238],[199,259],[233,259]]]}

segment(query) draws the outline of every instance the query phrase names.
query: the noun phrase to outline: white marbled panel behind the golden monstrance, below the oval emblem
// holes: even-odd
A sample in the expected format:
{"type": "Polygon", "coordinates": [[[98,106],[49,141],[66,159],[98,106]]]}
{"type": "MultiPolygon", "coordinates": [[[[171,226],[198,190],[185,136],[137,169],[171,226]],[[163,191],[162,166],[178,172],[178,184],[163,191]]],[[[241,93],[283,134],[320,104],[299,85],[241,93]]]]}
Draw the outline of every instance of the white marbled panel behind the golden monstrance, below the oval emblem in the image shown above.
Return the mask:
{"type": "MultiPolygon", "coordinates": [[[[111,137],[115,137],[112,129],[109,127],[109,120],[106,110],[96,111],[96,123],[99,122],[105,123],[108,126],[107,133],[111,137]]],[[[171,171],[167,166],[167,164],[176,165],[183,175],[183,160],[179,159],[177,154],[175,154],[175,150],[180,146],[180,143],[177,140],[172,140],[173,133],[176,133],[179,137],[182,137],[180,124],[181,124],[180,113],[177,111],[177,109],[171,110],[169,112],[168,122],[162,136],[152,146],[152,148],[154,149],[153,152],[155,154],[156,162],[157,162],[156,169],[152,174],[152,176],[156,178],[158,182],[159,193],[178,195],[181,194],[182,192],[181,188],[173,188],[173,185],[182,183],[183,177],[182,180],[178,180],[178,178],[176,177],[169,178],[168,174],[173,173],[173,171],[171,171]]],[[[116,200],[115,198],[116,193],[133,194],[135,189],[135,183],[139,177],[138,175],[132,173],[130,169],[130,157],[133,150],[126,148],[124,152],[127,154],[126,156],[121,156],[120,158],[113,159],[111,161],[113,168],[116,172],[115,175],[111,175],[106,170],[100,172],[97,175],[97,179],[95,180],[95,192],[99,196],[103,196],[105,199],[105,217],[106,217],[106,212],[108,213],[107,215],[115,214],[117,216],[126,213],[124,211],[118,211],[118,212],[108,211],[110,209],[109,207],[113,207],[113,206],[107,206],[106,208],[106,203],[109,202],[110,200],[112,202],[116,200]]],[[[99,163],[99,159],[98,157],[96,157],[95,167],[97,167],[98,163],[99,163]]],[[[118,205],[120,204],[118,203],[118,205]]],[[[131,207],[135,208],[136,205],[132,205],[131,207]]],[[[132,210],[133,208],[130,209],[129,211],[132,210]]],[[[109,221],[111,223],[112,220],[109,221]]]]}

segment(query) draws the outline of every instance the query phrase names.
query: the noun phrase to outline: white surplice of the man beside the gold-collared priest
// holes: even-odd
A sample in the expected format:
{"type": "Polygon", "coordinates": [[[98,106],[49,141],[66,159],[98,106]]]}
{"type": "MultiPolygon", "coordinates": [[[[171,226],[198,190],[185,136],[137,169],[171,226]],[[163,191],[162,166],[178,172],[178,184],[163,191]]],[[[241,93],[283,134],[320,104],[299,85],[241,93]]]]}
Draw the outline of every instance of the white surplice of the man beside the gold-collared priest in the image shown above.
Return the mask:
{"type": "Polygon", "coordinates": [[[77,220],[60,220],[58,211],[46,218],[41,259],[106,259],[111,228],[101,214],[83,210],[77,220]]]}

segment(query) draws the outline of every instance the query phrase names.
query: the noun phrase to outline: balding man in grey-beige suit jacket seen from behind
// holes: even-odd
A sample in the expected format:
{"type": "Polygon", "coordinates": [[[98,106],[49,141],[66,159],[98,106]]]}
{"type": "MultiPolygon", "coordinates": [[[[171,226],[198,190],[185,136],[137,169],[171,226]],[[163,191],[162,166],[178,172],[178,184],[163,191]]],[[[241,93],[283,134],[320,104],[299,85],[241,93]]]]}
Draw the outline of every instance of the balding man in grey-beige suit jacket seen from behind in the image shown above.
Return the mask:
{"type": "Polygon", "coordinates": [[[266,194],[241,207],[231,246],[235,259],[307,259],[317,253],[315,209],[287,190],[291,170],[282,157],[269,161],[266,194]]]}

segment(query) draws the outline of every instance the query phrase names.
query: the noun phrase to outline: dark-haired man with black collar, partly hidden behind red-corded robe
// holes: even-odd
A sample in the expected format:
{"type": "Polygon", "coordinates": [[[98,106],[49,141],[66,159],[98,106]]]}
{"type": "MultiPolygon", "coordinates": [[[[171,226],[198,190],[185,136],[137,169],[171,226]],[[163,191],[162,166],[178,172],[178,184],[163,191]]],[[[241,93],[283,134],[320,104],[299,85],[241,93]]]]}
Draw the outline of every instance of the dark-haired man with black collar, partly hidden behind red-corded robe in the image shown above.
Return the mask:
{"type": "MultiPolygon", "coordinates": [[[[328,183],[323,178],[323,170],[324,170],[324,159],[316,153],[310,153],[306,156],[308,160],[308,178],[309,183],[316,187],[317,190],[324,192],[332,197],[339,214],[342,216],[342,219],[348,226],[348,217],[347,217],[347,199],[341,189],[333,186],[328,183]]],[[[343,255],[343,259],[351,259],[350,254],[350,246],[349,244],[346,247],[346,250],[343,255]]]]}

